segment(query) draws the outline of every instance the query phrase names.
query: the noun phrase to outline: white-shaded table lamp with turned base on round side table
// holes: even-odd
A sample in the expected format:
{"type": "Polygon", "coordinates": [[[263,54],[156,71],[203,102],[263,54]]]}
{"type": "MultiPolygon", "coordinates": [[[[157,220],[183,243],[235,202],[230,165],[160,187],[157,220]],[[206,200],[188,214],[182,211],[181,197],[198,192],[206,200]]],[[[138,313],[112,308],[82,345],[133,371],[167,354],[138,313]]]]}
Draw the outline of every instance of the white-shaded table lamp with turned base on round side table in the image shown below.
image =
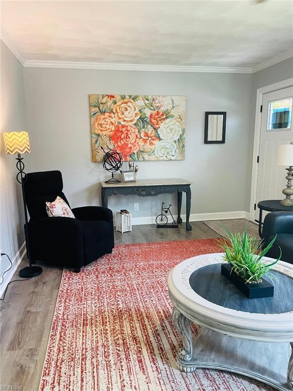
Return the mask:
{"type": "Polygon", "coordinates": [[[292,206],[293,200],[290,199],[293,194],[292,180],[293,180],[293,143],[280,145],[278,155],[278,165],[289,166],[288,174],[286,175],[287,184],[286,188],[282,190],[282,193],[286,195],[286,198],[280,202],[281,205],[292,206]]]}

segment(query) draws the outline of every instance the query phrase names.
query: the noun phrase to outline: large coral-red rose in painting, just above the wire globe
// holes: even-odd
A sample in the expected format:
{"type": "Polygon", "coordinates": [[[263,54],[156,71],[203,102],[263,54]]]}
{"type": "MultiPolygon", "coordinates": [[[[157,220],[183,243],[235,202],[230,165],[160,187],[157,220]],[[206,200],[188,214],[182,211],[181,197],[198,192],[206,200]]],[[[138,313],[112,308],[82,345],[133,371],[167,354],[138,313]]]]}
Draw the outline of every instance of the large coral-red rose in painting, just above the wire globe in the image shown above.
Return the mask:
{"type": "Polygon", "coordinates": [[[139,133],[133,125],[117,125],[111,140],[115,145],[114,150],[122,154],[124,161],[139,150],[139,133]]]}

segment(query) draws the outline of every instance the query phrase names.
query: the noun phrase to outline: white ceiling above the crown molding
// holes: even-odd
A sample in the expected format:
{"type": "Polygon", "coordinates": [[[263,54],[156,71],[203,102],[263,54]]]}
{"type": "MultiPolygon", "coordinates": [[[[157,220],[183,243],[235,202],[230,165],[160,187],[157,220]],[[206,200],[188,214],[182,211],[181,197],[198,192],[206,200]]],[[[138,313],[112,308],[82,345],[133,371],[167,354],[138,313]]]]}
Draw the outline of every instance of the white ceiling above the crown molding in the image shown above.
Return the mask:
{"type": "Polygon", "coordinates": [[[293,49],[293,1],[2,2],[25,60],[254,67],[293,49]]]}

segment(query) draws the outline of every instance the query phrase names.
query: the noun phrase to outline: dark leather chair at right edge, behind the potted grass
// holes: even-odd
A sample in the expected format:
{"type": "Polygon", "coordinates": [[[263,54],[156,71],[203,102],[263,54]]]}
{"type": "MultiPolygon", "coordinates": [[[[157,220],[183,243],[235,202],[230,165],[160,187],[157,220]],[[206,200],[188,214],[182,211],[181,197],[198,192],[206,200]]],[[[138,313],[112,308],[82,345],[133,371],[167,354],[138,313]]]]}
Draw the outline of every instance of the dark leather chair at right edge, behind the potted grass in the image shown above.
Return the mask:
{"type": "Polygon", "coordinates": [[[277,234],[276,241],[267,253],[267,257],[278,258],[282,250],[281,261],[293,264],[293,212],[268,213],[262,228],[262,246],[265,247],[277,234]]]}

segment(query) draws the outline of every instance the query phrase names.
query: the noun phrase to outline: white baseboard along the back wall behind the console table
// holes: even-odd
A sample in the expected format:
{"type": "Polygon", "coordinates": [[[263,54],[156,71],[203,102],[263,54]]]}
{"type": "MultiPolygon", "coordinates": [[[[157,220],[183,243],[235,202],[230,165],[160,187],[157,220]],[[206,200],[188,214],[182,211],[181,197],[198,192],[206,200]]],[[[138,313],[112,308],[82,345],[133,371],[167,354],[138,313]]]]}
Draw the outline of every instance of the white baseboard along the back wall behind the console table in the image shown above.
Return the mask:
{"type": "MultiPolygon", "coordinates": [[[[183,214],[182,220],[186,221],[186,215],[183,214]]],[[[177,218],[177,215],[174,215],[177,218]]],[[[215,212],[215,213],[192,213],[189,221],[205,221],[205,220],[227,220],[232,218],[246,218],[249,220],[249,212],[233,211],[233,212],[215,212]]],[[[156,224],[156,216],[133,217],[132,225],[139,226],[144,224],[156,224]]],[[[115,225],[115,221],[114,221],[115,225]]]]}

